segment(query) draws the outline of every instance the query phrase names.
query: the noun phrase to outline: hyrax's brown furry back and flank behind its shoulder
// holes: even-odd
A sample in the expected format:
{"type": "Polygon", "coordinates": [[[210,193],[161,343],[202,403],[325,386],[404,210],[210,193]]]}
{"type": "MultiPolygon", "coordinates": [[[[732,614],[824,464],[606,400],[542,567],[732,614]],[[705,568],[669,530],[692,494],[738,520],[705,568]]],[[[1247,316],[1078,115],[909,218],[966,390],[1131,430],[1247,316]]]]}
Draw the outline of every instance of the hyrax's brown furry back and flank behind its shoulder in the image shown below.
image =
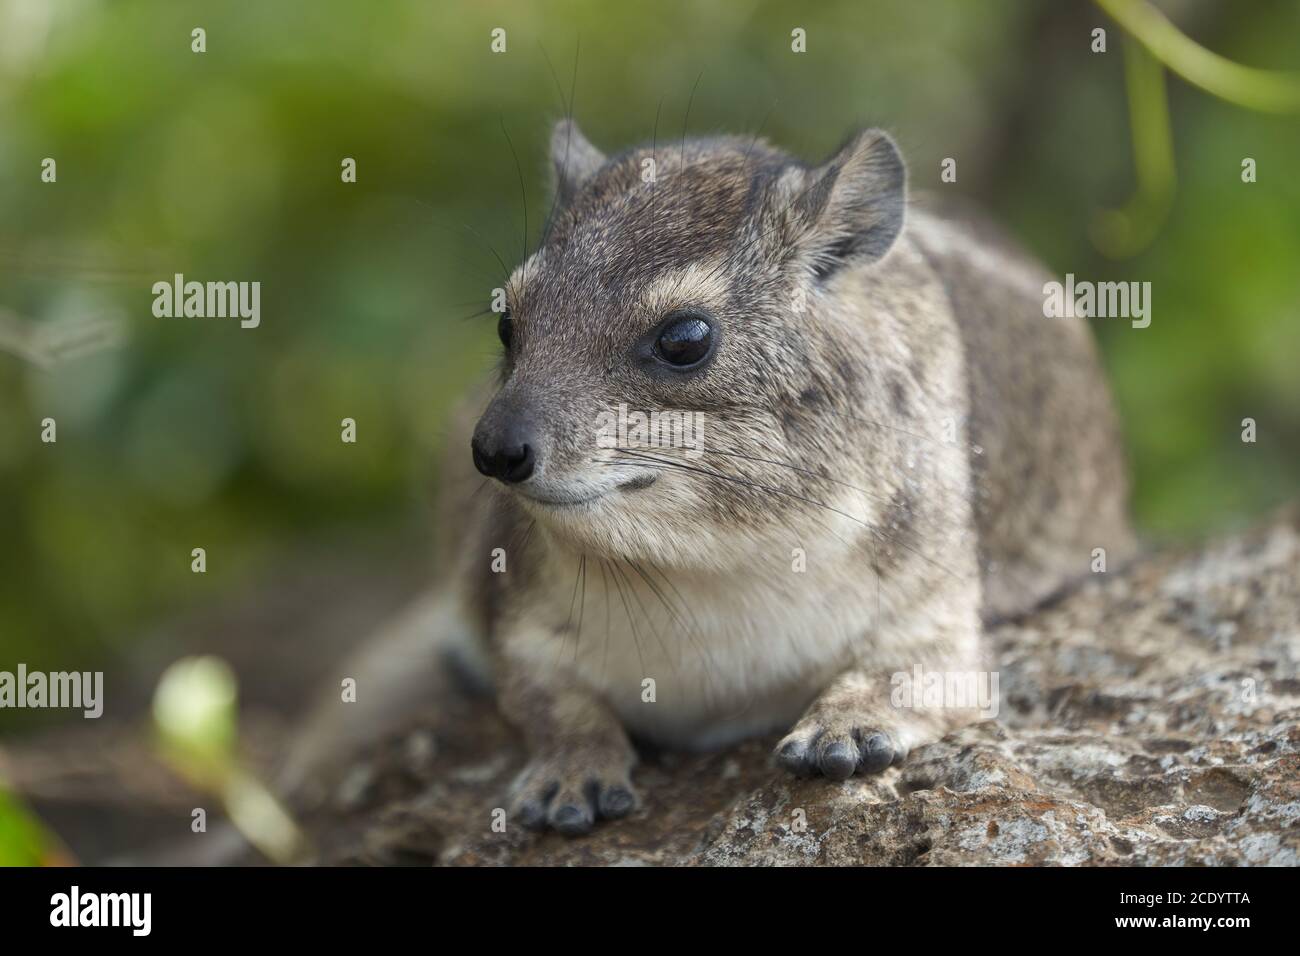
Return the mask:
{"type": "Polygon", "coordinates": [[[911,225],[966,354],[984,614],[1014,614],[1132,553],[1110,389],[1087,323],[1044,317],[1041,265],[985,221],[911,225]]]}

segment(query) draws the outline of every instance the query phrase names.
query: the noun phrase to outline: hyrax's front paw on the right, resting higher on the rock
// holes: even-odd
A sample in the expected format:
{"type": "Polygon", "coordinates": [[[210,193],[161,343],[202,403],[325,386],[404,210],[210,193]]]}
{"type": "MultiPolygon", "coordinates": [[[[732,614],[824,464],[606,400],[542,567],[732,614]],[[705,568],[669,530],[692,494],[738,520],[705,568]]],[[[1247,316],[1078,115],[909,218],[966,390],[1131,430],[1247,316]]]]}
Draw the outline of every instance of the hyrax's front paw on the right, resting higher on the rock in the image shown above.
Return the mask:
{"type": "Polygon", "coordinates": [[[822,774],[846,780],[879,774],[907,757],[898,735],[863,719],[809,715],[776,745],[776,762],[797,777],[822,774]]]}

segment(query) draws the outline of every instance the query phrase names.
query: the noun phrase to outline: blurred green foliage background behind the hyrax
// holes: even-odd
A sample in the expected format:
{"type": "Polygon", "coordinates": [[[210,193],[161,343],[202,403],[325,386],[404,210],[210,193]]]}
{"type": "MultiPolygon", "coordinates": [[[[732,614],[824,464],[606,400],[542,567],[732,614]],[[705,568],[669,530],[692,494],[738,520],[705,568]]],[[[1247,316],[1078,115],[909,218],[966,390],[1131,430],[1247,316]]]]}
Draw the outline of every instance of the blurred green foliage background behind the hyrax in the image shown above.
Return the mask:
{"type": "MultiPolygon", "coordinates": [[[[1294,0],[1158,7],[1225,57],[1300,70],[1294,0]]],[[[1149,328],[1095,323],[1149,540],[1290,499],[1300,118],[1175,75],[1165,112],[1132,64],[1126,83],[1122,34],[1083,0],[0,0],[0,670],[104,670],[109,698],[94,728],[0,711],[10,754],[48,758],[10,757],[10,787],[81,858],[148,840],[138,792],[99,825],[110,767],[72,743],[82,756],[60,762],[61,735],[94,730],[99,758],[133,766],[160,670],[214,650],[274,740],[338,650],[426,580],[443,420],[498,350],[494,323],[465,316],[498,256],[537,239],[571,85],[606,150],[649,139],[656,114],[662,140],[760,130],[809,159],[888,127],[915,187],[984,206],[1058,276],[1152,284],[1149,328]],[[1152,202],[1135,134],[1156,143],[1152,202]],[[1149,235],[1115,248],[1098,222],[1135,194],[1149,235]],[[260,328],[153,317],[151,286],[174,273],[260,281],[260,328]],[[79,334],[91,345],[47,360],[79,334]]],[[[172,784],[144,777],[169,805],[172,784]]]]}

